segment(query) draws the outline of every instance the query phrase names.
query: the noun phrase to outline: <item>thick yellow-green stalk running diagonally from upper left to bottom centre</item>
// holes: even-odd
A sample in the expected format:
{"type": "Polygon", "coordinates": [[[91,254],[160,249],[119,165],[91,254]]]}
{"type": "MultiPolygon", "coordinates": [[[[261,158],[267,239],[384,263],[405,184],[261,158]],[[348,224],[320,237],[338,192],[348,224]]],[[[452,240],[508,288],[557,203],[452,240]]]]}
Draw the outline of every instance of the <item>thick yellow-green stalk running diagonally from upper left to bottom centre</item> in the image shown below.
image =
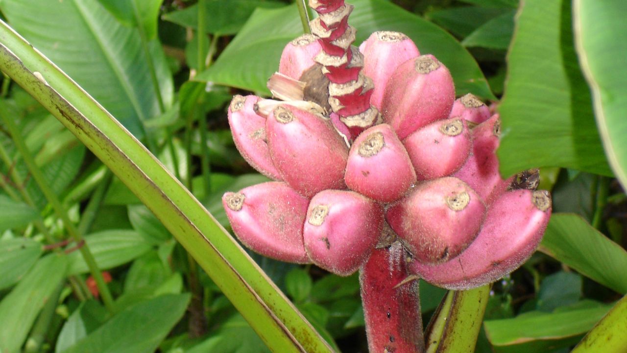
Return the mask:
{"type": "Polygon", "coordinates": [[[332,352],[198,200],[100,104],[3,21],[0,70],[57,117],[152,210],[271,350],[332,352]],[[45,81],[33,72],[40,72],[45,81]]]}

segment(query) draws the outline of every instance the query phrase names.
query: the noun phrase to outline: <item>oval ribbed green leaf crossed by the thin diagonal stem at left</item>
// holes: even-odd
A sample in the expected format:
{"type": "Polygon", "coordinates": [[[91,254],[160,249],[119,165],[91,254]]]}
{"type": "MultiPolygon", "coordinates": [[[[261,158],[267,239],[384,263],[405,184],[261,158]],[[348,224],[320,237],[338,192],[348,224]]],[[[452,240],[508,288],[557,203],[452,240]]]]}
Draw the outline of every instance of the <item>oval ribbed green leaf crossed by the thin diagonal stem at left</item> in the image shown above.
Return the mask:
{"type": "MultiPolygon", "coordinates": [[[[102,231],[85,236],[85,242],[96,259],[98,268],[110,269],[128,263],[151,249],[150,244],[135,231],[102,231]]],[[[89,269],[80,252],[68,255],[68,274],[87,273],[89,269]]]]}

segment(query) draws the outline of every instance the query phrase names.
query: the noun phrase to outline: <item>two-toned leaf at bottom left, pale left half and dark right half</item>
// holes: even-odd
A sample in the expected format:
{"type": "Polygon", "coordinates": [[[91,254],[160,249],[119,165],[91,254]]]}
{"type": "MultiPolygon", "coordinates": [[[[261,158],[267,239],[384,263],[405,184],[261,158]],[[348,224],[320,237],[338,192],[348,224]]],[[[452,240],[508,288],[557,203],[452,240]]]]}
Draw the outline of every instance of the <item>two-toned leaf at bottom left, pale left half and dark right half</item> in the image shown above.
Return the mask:
{"type": "Polygon", "coordinates": [[[106,320],[107,310],[98,301],[90,299],[80,303],[63,324],[56,340],[55,352],[63,352],[75,345],[83,337],[98,329],[106,320]]]}

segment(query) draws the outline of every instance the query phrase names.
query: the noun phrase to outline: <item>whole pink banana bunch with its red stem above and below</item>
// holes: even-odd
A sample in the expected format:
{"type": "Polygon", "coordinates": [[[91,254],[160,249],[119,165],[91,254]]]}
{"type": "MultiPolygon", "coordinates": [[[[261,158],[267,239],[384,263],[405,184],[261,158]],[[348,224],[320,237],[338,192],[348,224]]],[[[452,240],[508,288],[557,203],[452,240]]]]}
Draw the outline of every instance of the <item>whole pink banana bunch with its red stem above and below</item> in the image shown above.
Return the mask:
{"type": "Polygon", "coordinates": [[[461,290],[514,271],[551,197],[532,190],[537,174],[501,178],[498,114],[455,99],[436,57],[390,31],[357,49],[352,6],[310,6],[314,35],[288,43],[268,82],[282,100],[236,95],[228,109],[241,155],[275,181],[226,193],[224,209],[257,253],[361,269],[371,351],[420,352],[416,278],[461,290]]]}

